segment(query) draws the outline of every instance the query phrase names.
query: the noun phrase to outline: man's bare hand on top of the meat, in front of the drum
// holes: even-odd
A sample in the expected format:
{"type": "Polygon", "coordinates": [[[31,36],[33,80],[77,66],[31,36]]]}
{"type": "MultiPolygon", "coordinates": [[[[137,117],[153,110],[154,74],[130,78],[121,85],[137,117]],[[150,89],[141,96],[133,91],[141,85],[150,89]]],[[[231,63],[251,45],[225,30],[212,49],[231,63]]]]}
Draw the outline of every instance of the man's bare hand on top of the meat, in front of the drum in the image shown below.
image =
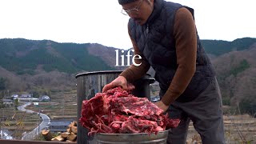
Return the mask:
{"type": "Polygon", "coordinates": [[[129,87],[127,85],[127,80],[123,76],[118,76],[118,78],[115,78],[114,81],[110,82],[109,84],[106,84],[106,86],[103,87],[102,93],[106,92],[107,90],[110,90],[116,86],[122,86],[123,90],[128,90],[129,87]]]}

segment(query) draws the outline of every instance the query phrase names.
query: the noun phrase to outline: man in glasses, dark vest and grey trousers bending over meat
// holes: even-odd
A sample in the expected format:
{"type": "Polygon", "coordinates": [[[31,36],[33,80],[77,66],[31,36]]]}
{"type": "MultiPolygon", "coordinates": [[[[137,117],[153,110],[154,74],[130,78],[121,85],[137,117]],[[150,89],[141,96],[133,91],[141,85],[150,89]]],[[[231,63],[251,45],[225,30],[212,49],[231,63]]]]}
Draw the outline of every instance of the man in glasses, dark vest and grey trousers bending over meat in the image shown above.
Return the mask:
{"type": "Polygon", "coordinates": [[[204,144],[225,143],[222,98],[214,68],[199,40],[194,10],[164,0],[118,0],[130,17],[128,32],[140,66],[131,65],[103,88],[129,89],[152,66],[159,82],[161,101],[155,104],[181,118],[170,130],[167,143],[186,143],[190,120],[204,144]]]}

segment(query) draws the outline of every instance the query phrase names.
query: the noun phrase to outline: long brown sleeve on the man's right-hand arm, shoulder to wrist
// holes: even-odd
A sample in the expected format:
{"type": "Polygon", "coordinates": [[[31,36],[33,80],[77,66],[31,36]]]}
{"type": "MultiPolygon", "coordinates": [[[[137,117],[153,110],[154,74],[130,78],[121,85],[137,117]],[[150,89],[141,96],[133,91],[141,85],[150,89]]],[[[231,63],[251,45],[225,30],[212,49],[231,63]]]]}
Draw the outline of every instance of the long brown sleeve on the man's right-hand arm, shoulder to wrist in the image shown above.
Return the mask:
{"type": "Polygon", "coordinates": [[[178,69],[166,94],[162,97],[162,102],[167,106],[186,90],[196,70],[196,27],[192,14],[184,7],[175,14],[174,38],[178,69]]]}

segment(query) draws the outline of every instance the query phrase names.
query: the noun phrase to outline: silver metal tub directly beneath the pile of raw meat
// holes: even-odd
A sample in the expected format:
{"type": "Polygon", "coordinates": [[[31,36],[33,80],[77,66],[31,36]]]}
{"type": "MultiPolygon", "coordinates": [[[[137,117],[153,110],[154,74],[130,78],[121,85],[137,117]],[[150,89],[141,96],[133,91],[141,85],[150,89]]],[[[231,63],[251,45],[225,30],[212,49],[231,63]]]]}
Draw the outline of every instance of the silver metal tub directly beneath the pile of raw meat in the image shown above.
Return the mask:
{"type": "Polygon", "coordinates": [[[158,134],[96,134],[95,144],[166,144],[168,130],[158,132],[158,134]]]}

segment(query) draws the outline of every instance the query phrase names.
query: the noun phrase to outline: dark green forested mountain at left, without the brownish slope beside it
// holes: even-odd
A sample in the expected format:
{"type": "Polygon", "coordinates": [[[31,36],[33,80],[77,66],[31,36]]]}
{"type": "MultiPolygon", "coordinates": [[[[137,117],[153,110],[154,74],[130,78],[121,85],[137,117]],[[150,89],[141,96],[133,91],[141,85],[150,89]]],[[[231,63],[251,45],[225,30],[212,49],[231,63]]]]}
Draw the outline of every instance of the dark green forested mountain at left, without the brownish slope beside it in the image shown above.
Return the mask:
{"type": "Polygon", "coordinates": [[[38,66],[50,72],[69,74],[81,70],[112,70],[102,58],[88,53],[90,44],[34,41],[22,38],[0,40],[0,66],[15,74],[35,73],[38,66]]]}

